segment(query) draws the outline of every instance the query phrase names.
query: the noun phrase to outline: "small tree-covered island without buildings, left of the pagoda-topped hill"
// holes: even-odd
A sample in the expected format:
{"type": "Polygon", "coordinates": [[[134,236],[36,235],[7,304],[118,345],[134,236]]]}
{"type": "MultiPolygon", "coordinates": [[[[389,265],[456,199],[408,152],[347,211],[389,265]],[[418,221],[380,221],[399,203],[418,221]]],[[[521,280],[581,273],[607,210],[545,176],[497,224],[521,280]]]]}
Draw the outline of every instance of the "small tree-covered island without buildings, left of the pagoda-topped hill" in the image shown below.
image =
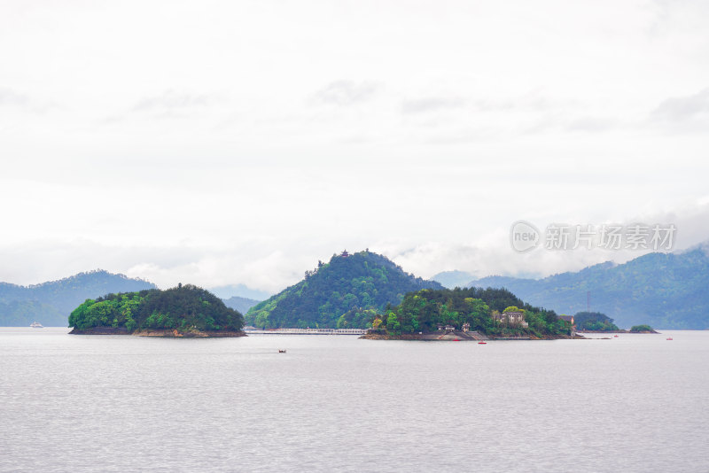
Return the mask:
{"type": "Polygon", "coordinates": [[[69,315],[70,333],[142,337],[244,337],[244,317],[191,284],[87,299],[69,315]]]}

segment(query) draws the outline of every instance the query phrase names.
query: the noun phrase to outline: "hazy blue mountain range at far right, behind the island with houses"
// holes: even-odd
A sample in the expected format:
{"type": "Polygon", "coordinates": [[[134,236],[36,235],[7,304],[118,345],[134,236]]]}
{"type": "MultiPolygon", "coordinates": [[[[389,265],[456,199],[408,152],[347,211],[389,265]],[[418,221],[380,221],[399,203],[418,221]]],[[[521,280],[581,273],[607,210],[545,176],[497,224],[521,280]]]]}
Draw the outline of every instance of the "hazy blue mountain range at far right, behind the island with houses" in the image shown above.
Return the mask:
{"type": "Polygon", "coordinates": [[[488,276],[467,287],[506,288],[557,314],[587,308],[620,327],[647,323],[657,329],[709,329],[709,256],[702,249],[649,253],[627,263],[605,262],[543,279],[488,276]]]}

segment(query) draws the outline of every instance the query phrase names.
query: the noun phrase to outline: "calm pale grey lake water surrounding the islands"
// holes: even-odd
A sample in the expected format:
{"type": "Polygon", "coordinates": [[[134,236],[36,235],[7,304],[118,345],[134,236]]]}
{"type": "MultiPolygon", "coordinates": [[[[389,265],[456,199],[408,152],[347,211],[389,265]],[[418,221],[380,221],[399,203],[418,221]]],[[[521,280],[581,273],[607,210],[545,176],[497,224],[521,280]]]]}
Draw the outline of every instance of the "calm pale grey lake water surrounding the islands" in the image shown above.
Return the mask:
{"type": "Polygon", "coordinates": [[[0,329],[1,471],[709,471],[707,331],[66,332],[0,329]]]}

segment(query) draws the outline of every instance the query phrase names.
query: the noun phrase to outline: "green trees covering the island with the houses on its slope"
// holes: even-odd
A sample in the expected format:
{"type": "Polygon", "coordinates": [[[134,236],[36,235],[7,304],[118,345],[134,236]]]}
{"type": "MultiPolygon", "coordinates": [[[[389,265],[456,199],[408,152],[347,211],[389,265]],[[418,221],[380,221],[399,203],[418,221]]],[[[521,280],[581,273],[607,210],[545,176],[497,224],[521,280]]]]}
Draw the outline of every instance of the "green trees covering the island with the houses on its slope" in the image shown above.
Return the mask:
{"type": "Polygon", "coordinates": [[[373,328],[392,335],[431,332],[440,325],[452,325],[460,330],[470,323],[470,330],[488,335],[515,337],[519,335],[568,334],[571,326],[554,311],[526,304],[504,289],[425,290],[406,295],[399,306],[387,307],[372,322],[373,328]],[[495,322],[493,313],[520,311],[528,327],[495,322]]]}

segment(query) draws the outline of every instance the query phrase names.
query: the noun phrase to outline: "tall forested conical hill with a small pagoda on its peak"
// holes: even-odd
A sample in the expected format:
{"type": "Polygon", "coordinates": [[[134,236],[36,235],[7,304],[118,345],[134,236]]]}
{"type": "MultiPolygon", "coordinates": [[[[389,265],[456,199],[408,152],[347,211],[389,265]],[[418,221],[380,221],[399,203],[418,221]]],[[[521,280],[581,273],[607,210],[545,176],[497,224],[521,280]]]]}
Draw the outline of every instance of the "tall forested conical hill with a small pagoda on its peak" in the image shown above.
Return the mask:
{"type": "Polygon", "coordinates": [[[364,328],[370,322],[366,311],[398,304],[407,292],[440,287],[377,253],[332,255],[330,262],[306,271],[300,283],[253,306],[245,318],[259,328],[364,328]]]}

